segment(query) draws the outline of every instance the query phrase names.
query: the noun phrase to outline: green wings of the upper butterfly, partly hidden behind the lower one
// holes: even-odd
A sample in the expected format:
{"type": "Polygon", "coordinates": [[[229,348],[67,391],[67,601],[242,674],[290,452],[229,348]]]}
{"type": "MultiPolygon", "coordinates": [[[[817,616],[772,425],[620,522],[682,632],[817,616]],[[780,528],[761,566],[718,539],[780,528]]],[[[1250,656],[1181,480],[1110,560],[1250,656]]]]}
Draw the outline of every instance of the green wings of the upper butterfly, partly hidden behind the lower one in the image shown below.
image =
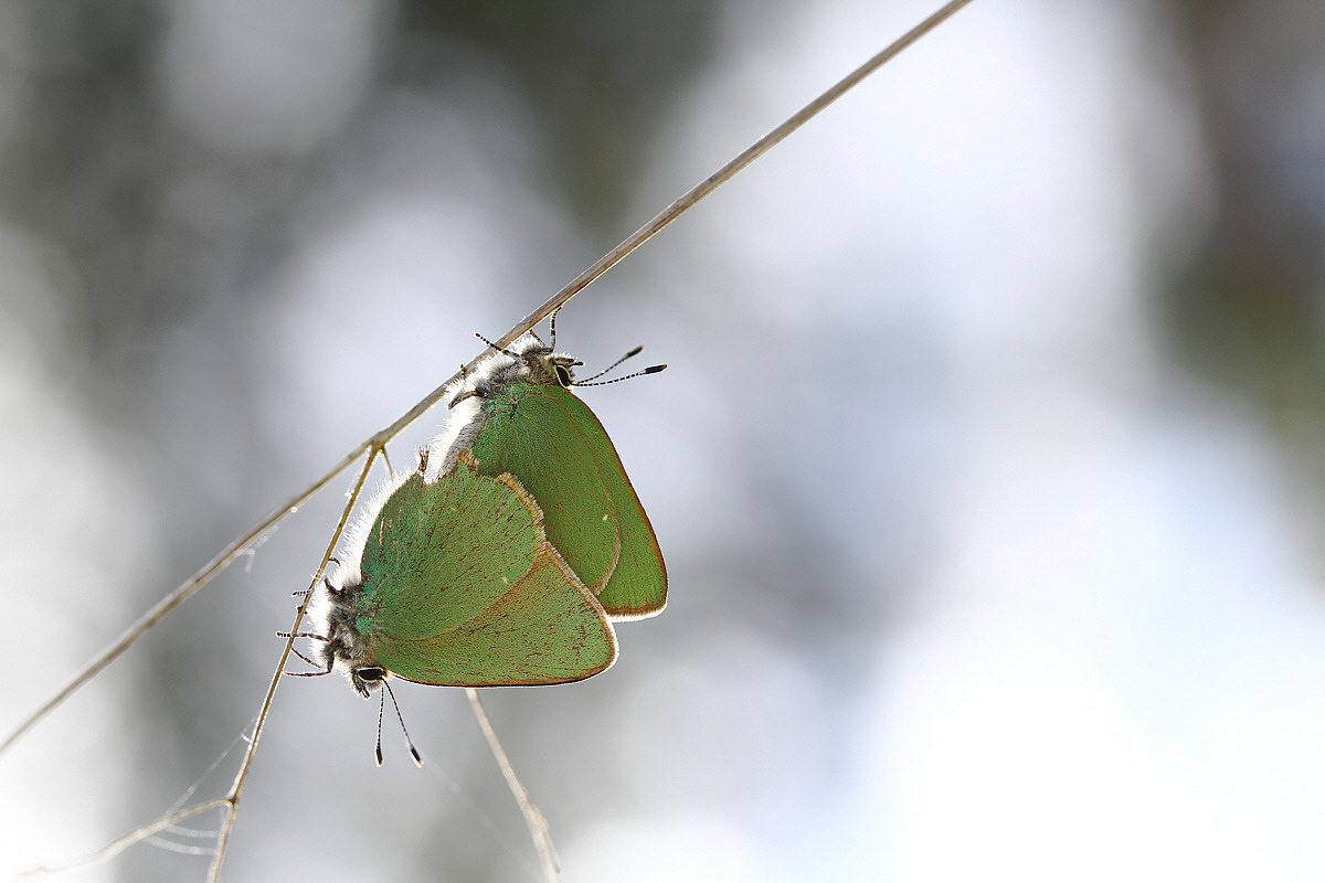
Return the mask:
{"type": "Polygon", "coordinates": [[[659,613],[662,552],[603,424],[556,385],[513,384],[506,395],[474,441],[480,471],[519,479],[543,510],[547,540],[608,616],[659,613]]]}

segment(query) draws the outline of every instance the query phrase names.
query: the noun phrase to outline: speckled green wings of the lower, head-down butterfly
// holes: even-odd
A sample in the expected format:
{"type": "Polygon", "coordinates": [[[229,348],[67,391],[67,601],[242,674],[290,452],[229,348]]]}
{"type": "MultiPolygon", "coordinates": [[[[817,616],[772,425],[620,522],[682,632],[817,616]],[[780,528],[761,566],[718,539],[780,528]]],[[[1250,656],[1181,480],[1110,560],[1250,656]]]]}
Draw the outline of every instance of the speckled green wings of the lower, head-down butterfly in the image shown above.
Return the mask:
{"type": "Polygon", "coordinates": [[[461,458],[413,475],[383,506],[360,565],[376,661],[420,683],[542,684],[616,658],[607,617],[543,536],[538,504],[509,475],[461,458]]]}

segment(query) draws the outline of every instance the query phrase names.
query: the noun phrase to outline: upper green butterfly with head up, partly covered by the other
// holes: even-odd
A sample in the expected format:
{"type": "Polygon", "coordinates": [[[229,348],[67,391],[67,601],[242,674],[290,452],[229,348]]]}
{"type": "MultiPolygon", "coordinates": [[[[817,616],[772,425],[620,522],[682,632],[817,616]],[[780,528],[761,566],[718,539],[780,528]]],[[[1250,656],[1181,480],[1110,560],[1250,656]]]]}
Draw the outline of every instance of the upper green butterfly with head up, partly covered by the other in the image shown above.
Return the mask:
{"type": "Polygon", "coordinates": [[[653,616],[666,604],[657,537],[603,424],[571,392],[582,363],[554,352],[555,324],[551,342],[527,334],[482,359],[452,397],[432,453],[441,473],[468,451],[480,474],[515,477],[543,510],[549,541],[607,614],[653,616]]]}

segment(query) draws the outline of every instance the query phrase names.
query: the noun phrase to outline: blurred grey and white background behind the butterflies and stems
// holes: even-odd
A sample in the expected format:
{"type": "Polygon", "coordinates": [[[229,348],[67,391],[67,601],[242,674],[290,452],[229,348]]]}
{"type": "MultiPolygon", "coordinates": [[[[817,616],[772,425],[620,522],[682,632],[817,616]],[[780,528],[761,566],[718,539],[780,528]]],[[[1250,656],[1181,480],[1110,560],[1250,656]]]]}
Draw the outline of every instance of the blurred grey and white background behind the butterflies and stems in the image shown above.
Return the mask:
{"type": "MultiPolygon", "coordinates": [[[[0,729],[937,5],[0,3],[0,729]]],[[[583,391],[669,608],[486,694],[564,879],[1325,876],[1321,46],[982,0],[564,310],[670,364],[583,391]]],[[[224,793],[350,483],[0,757],[0,874],[224,793]]],[[[538,879],[461,691],[398,696],[423,770],[282,686],[225,880],[538,879]]]]}

